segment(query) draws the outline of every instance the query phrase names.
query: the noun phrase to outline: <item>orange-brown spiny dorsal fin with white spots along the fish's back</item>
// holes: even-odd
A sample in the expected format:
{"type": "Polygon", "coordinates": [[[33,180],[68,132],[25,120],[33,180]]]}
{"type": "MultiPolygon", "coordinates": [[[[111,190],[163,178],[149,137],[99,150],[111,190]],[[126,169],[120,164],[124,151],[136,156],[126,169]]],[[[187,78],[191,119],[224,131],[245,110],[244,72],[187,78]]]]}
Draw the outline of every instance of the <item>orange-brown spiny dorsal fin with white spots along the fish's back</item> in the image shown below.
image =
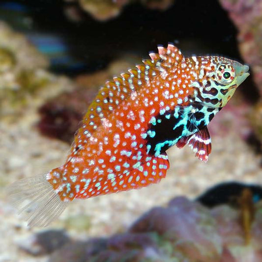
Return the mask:
{"type": "MultiPolygon", "coordinates": [[[[158,47],[158,52],[159,54],[149,55],[152,60],[143,60],[144,64],[136,65],[136,69],[129,69],[128,73],[122,73],[120,77],[114,77],[113,81],[106,82],[99,90],[84,117],[83,128],[87,138],[131,93],[139,91],[152,78],[162,74],[161,69],[166,71],[184,59],[178,48],[172,44],[167,48],[158,47]]],[[[81,130],[83,131],[80,128],[79,132],[81,130]]]]}

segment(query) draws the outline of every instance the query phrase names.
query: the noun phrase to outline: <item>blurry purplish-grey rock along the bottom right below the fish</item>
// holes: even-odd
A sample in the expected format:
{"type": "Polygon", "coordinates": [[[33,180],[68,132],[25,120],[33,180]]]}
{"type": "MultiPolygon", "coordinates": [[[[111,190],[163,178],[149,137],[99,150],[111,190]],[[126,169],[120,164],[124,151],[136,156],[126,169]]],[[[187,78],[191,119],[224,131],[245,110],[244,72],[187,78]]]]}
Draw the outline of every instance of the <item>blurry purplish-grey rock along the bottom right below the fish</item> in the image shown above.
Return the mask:
{"type": "MultiPolygon", "coordinates": [[[[236,183],[225,186],[230,189],[236,183]]],[[[250,187],[244,184],[237,186],[243,190],[250,187]]],[[[261,191],[257,186],[254,188],[261,191]]],[[[215,193],[214,190],[216,188],[207,194],[210,196],[211,191],[215,193]]],[[[66,241],[60,241],[63,245],[51,254],[49,262],[260,261],[261,208],[260,202],[254,204],[254,221],[248,228],[250,238],[246,242],[238,208],[225,203],[208,209],[199,202],[176,197],[167,207],[154,207],[146,212],[126,233],[88,241],[68,240],[65,235],[66,241]]],[[[59,233],[59,239],[62,235],[59,233]]],[[[45,236],[42,243],[52,242],[52,232],[47,232],[45,236]]]]}

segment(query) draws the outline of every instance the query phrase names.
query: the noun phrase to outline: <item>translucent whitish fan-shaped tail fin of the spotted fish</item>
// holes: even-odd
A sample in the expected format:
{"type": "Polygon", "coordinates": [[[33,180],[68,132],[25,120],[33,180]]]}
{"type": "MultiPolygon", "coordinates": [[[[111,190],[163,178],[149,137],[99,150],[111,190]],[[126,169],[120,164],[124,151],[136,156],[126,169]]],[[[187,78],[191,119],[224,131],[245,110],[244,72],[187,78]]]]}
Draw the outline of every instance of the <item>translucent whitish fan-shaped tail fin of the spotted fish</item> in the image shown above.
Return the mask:
{"type": "Polygon", "coordinates": [[[48,182],[50,174],[24,178],[11,184],[7,189],[10,203],[28,226],[45,227],[56,219],[69,201],[62,201],[48,182]]]}

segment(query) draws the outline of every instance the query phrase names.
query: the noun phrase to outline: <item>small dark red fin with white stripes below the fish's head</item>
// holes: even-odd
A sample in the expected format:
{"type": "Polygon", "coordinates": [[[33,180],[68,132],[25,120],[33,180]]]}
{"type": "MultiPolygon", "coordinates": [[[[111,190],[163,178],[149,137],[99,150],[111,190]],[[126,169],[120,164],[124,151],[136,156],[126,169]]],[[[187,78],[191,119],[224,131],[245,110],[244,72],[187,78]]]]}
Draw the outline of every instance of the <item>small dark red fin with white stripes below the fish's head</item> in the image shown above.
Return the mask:
{"type": "Polygon", "coordinates": [[[208,155],[211,153],[211,139],[207,127],[192,136],[181,138],[176,146],[182,148],[186,144],[201,161],[207,162],[208,155]]]}

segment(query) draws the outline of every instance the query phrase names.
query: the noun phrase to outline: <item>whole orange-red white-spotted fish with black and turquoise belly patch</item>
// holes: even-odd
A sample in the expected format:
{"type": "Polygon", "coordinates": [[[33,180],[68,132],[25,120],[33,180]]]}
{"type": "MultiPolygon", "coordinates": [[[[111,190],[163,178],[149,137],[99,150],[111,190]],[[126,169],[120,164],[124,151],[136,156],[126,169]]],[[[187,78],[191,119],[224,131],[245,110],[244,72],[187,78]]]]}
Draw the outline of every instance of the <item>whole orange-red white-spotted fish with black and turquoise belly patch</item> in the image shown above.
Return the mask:
{"type": "Polygon", "coordinates": [[[184,58],[172,44],[106,82],[61,167],[13,183],[8,194],[29,226],[46,226],[74,199],[138,189],[166,176],[166,150],[186,144],[207,161],[207,125],[249,75],[217,56],[184,58]]]}

